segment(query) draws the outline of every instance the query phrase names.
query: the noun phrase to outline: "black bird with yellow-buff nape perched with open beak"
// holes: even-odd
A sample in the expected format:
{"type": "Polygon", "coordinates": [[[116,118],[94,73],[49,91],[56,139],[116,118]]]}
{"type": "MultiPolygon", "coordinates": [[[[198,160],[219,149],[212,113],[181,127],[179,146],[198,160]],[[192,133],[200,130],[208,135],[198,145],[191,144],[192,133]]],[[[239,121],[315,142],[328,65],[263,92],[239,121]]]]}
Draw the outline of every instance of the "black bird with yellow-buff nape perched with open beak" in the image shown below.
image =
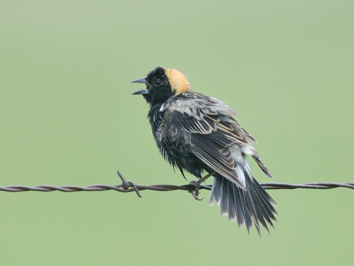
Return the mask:
{"type": "Polygon", "coordinates": [[[256,140],[234,119],[238,113],[222,101],[192,92],[188,79],[176,69],[156,67],[146,77],[132,83],[145,83],[132,94],[142,94],[150,105],[148,112],[156,144],[165,160],[182,175],[187,171],[201,181],[213,175],[209,204],[221,203],[221,215],[229,221],[246,224],[248,232],[258,221],[269,232],[267,221],[277,215],[274,200],[253,178],[246,155],[256,160],[272,178],[251,144],[256,140]],[[203,173],[208,173],[203,177],[203,173]]]}

